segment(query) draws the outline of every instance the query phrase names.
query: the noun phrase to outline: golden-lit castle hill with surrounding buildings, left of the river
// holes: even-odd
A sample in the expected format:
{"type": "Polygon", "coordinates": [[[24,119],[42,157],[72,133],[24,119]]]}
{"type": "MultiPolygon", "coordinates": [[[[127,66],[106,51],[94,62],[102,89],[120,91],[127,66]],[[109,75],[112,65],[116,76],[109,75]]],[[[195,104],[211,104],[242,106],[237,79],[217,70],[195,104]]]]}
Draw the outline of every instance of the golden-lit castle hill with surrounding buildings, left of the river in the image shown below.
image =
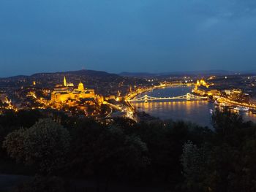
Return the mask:
{"type": "Polygon", "coordinates": [[[54,88],[42,88],[39,82],[32,81],[30,86],[21,87],[15,94],[15,101],[8,99],[6,92],[0,92],[0,112],[3,110],[55,109],[70,114],[97,116],[101,113],[103,96],[94,89],[86,88],[83,82],[74,85],[64,77],[61,84],[54,88]],[[15,106],[15,107],[14,107],[15,106]]]}

